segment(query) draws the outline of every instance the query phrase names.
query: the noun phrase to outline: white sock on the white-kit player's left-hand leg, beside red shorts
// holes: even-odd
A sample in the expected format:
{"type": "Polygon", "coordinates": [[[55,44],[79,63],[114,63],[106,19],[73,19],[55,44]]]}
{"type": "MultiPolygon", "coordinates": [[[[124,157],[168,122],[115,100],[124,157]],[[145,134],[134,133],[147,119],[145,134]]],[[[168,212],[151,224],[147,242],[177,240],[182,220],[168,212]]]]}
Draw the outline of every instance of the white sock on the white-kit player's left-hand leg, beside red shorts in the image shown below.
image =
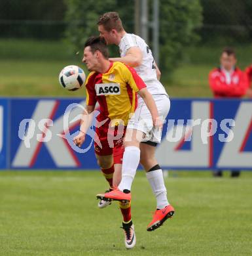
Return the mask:
{"type": "Polygon", "coordinates": [[[127,146],[124,150],[122,160],[122,181],[118,188],[131,190],[132,182],[140,161],[140,150],[136,146],[127,146]]]}

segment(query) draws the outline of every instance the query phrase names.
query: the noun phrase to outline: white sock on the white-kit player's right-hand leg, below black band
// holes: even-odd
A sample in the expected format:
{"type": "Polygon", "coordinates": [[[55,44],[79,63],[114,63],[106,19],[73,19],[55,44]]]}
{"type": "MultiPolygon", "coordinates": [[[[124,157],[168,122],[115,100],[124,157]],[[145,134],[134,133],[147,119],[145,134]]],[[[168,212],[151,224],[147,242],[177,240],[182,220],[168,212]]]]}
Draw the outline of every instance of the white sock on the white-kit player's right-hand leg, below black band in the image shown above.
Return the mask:
{"type": "Polygon", "coordinates": [[[151,184],[153,193],[156,196],[156,208],[163,209],[170,203],[167,200],[166,186],[164,185],[164,177],[162,170],[155,170],[146,173],[146,177],[151,184]]]}

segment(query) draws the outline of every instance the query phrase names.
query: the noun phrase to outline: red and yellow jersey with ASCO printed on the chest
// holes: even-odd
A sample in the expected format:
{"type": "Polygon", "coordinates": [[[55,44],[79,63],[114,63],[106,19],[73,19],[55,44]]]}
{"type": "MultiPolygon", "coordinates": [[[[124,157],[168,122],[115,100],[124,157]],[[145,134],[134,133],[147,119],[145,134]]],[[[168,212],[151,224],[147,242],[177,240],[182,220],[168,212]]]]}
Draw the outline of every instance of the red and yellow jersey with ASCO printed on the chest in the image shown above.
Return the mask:
{"type": "MultiPolygon", "coordinates": [[[[120,119],[127,125],[137,107],[136,93],[146,85],[134,68],[111,62],[106,73],[91,72],[86,79],[86,105],[100,106],[99,121],[120,119]]],[[[118,121],[114,123],[117,125],[118,121]]]]}

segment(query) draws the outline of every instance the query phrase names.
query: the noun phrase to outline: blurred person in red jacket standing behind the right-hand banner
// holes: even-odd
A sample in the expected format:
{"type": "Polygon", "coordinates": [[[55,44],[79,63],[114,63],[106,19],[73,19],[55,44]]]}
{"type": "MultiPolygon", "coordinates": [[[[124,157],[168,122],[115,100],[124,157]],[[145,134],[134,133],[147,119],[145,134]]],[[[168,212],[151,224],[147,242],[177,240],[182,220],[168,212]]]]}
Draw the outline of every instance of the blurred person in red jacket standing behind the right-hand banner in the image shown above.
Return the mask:
{"type": "MultiPolygon", "coordinates": [[[[247,93],[249,83],[247,75],[236,67],[236,53],[233,49],[223,49],[221,66],[209,73],[209,85],[215,98],[241,98],[247,93]]],[[[215,177],[223,175],[221,170],[213,172],[215,177]]],[[[231,177],[238,177],[240,171],[231,171],[231,177]]]]}

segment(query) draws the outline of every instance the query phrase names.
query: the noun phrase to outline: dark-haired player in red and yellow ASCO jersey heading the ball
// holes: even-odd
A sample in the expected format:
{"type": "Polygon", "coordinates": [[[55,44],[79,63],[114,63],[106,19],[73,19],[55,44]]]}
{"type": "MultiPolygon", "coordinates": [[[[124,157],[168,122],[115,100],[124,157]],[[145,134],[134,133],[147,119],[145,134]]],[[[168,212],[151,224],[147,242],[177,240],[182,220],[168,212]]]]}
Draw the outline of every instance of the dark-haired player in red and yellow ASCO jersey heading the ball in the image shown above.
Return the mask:
{"type": "MultiPolygon", "coordinates": [[[[84,115],[94,112],[96,102],[100,106],[97,117],[101,126],[96,127],[94,148],[101,171],[108,179],[110,186],[120,182],[123,138],[126,125],[137,107],[136,93],[143,98],[153,117],[153,123],[162,127],[158,110],[146,85],[133,68],[122,62],[111,62],[108,59],[107,45],[101,37],[90,37],[84,46],[83,62],[91,73],[86,79],[86,110],[84,115]],[[112,178],[113,177],[113,184],[112,178]],[[110,178],[110,179],[109,179],[110,178]]],[[[74,138],[75,144],[81,146],[85,140],[86,123],[81,124],[81,131],[74,138]]],[[[130,202],[120,202],[124,217],[122,228],[125,234],[125,245],[135,245],[134,224],[131,220],[130,202]]]]}

